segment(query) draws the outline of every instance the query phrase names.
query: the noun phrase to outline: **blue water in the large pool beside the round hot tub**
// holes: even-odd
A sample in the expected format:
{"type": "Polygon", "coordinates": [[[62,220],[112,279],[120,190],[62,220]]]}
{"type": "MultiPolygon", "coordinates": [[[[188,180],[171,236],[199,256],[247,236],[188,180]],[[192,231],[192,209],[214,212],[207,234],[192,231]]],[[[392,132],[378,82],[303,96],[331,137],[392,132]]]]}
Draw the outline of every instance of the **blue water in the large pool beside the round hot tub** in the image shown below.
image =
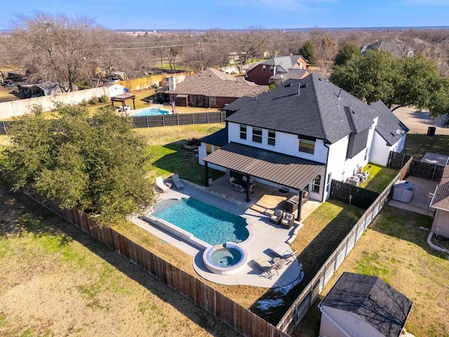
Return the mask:
{"type": "Polygon", "coordinates": [[[163,200],[152,214],[215,246],[242,242],[249,236],[246,220],[195,198],[163,200]]]}

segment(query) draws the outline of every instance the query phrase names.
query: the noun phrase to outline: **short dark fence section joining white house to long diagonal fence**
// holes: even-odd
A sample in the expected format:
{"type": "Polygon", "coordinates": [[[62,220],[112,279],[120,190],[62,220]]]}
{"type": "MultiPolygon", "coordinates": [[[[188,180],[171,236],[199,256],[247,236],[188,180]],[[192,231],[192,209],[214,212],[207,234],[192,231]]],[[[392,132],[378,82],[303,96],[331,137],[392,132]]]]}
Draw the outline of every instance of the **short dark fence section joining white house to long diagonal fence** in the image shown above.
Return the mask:
{"type": "Polygon", "coordinates": [[[379,193],[333,179],[330,197],[360,209],[368,209],[379,197],[379,193]]]}

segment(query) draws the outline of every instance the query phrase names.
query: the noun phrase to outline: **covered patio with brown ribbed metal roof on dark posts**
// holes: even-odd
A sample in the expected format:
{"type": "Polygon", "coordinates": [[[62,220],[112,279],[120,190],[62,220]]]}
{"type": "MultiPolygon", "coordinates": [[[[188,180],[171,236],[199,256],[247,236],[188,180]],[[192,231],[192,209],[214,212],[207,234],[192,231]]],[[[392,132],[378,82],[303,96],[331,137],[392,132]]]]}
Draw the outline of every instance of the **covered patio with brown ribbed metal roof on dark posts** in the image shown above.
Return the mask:
{"type": "MultiPolygon", "coordinates": [[[[253,178],[267,181],[267,185],[279,186],[281,193],[298,192],[296,220],[301,220],[303,191],[319,174],[324,171],[324,164],[308,161],[285,154],[279,154],[257,147],[229,143],[203,159],[205,165],[205,185],[209,186],[208,164],[222,166],[233,174],[241,176],[245,201],[249,203],[253,178]],[[292,191],[293,190],[293,191],[292,191]]],[[[229,177],[228,177],[229,178],[229,177]]],[[[229,185],[229,190],[231,186],[229,185]]],[[[263,206],[262,206],[263,207],[263,206]]]]}

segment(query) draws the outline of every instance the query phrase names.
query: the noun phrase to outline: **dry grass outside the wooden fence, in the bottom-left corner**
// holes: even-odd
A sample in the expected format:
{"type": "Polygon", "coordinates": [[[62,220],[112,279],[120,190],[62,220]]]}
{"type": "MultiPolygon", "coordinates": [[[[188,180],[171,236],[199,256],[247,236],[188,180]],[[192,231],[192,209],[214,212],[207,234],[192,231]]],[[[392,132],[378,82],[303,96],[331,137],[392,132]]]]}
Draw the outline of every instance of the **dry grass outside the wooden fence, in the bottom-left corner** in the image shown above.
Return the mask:
{"type": "Polygon", "coordinates": [[[1,336],[236,336],[88,234],[4,187],[0,213],[1,336]]]}

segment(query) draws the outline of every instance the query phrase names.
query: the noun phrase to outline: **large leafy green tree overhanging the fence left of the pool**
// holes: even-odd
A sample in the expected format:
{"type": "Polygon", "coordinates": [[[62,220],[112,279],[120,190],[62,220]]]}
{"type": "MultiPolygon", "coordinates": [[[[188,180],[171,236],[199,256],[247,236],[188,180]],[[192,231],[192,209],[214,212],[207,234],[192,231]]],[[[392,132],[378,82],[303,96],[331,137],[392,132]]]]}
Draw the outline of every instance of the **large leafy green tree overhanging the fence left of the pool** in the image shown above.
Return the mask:
{"type": "Polygon", "coordinates": [[[15,119],[1,161],[15,189],[34,190],[62,209],[78,207],[100,225],[152,204],[145,143],[129,117],[111,107],[91,117],[74,105],[58,105],[55,117],[35,110],[15,119]]]}

